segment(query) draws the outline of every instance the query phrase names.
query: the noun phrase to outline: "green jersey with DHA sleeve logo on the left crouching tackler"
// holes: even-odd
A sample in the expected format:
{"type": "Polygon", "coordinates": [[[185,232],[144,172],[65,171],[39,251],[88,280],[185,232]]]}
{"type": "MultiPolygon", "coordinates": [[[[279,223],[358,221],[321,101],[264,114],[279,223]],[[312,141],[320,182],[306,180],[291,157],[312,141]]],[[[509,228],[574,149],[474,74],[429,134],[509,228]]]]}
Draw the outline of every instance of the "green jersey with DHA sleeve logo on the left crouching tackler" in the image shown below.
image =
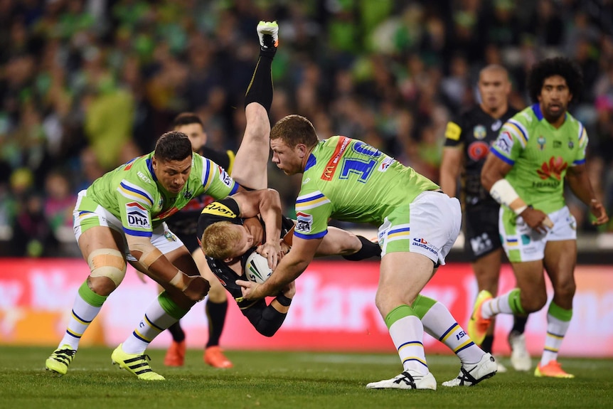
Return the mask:
{"type": "MultiPolygon", "coordinates": [[[[238,190],[239,185],[221,166],[193,154],[187,183],[181,192],[170,193],[157,182],[151,166],[153,155],[151,152],[132,159],[96,179],[87,188],[87,198],[119,218],[127,235],[151,237],[154,228],[181,210],[192,198],[206,193],[220,199],[238,190]]],[[[87,209],[79,210],[79,216],[87,216],[87,209]]]]}

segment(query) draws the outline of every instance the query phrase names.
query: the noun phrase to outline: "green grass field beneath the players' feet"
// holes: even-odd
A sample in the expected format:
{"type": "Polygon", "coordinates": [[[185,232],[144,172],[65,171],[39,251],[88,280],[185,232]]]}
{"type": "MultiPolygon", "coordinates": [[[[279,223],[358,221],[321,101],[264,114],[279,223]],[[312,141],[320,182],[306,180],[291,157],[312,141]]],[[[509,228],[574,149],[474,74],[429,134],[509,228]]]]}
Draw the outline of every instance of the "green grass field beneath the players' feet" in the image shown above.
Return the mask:
{"type": "MultiPolygon", "coordinates": [[[[228,351],[234,368],[206,366],[202,351],[143,382],[111,365],[111,349],[82,348],[65,376],[45,371],[50,348],[1,347],[0,408],[613,408],[612,359],[562,358],[570,380],[509,369],[471,388],[440,385],[457,375],[454,356],[428,356],[437,391],[370,391],[366,383],[400,373],[393,354],[228,351]]],[[[503,363],[508,360],[503,359],[503,363]]]]}

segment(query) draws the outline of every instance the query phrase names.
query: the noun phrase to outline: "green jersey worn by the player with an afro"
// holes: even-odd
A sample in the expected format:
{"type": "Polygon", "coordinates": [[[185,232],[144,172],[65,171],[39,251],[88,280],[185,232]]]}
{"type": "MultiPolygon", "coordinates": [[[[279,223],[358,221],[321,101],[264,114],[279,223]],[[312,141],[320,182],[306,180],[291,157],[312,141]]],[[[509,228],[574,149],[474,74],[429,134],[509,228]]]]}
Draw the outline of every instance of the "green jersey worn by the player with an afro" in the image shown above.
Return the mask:
{"type": "MultiPolygon", "coordinates": [[[[569,166],[585,163],[587,132],[569,113],[555,129],[540,105],[527,107],[502,127],[491,152],[513,165],[505,179],[526,203],[544,213],[565,206],[564,176],[569,166]]],[[[511,212],[505,208],[506,212],[511,212]]]]}

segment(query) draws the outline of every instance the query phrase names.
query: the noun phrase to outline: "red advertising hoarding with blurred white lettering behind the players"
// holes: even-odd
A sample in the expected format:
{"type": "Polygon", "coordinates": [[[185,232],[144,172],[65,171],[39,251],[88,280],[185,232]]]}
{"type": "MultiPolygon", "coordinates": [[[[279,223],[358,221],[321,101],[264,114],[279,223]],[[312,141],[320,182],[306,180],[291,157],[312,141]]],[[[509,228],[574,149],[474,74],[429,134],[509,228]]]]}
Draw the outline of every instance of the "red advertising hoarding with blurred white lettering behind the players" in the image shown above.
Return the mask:
{"type": "MultiPolygon", "coordinates": [[[[78,287],[87,277],[87,264],[78,259],[0,259],[0,344],[56,346],[78,287]]],[[[613,267],[578,266],[573,317],[561,354],[613,356],[613,267]]],[[[316,261],[297,280],[297,294],[277,334],[267,338],[252,328],[230,300],[221,339],[225,349],[393,352],[388,331],[374,299],[378,263],[316,261]]],[[[514,285],[513,273],[503,266],[501,291],[514,285]]],[[[117,346],[132,333],[146,307],[156,297],[151,280],[142,282],[129,267],[122,285],[111,294],[102,312],[82,338],[82,345],[117,346]]],[[[466,327],[476,283],[470,265],[441,267],[423,294],[446,305],[466,327]]],[[[548,293],[551,296],[551,291],[548,293]]],[[[181,320],[191,348],[202,348],[208,329],[204,304],[196,304],[181,320]]],[[[508,353],[506,334],[512,317],[499,316],[494,351],[508,353]]],[[[546,307],[532,314],[526,328],[528,349],[539,356],[543,348],[546,307]]],[[[151,344],[164,348],[169,334],[151,344]]],[[[425,335],[427,353],[449,354],[425,335]]]]}

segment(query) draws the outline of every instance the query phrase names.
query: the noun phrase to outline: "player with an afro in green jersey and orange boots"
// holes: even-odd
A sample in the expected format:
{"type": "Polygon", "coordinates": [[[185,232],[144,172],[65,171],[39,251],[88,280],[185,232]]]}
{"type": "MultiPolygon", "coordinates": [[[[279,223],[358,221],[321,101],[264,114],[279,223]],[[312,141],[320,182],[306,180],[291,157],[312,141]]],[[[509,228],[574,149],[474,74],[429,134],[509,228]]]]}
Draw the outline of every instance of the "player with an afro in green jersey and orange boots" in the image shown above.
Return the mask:
{"type": "Polygon", "coordinates": [[[589,206],[595,225],[609,220],[585,169],[587,132],[567,107],[582,90],[582,73],[567,58],[533,65],[528,90],[534,105],[503,125],[481,172],[481,182],[501,206],[499,229],[517,287],[499,297],[479,292],[469,334],[484,339],[496,314],[527,314],[547,302],[543,267],[553,286],[547,335],[535,376],[573,378],[558,363],[572,317],[577,225],[564,200],[564,182],[589,206]]]}

